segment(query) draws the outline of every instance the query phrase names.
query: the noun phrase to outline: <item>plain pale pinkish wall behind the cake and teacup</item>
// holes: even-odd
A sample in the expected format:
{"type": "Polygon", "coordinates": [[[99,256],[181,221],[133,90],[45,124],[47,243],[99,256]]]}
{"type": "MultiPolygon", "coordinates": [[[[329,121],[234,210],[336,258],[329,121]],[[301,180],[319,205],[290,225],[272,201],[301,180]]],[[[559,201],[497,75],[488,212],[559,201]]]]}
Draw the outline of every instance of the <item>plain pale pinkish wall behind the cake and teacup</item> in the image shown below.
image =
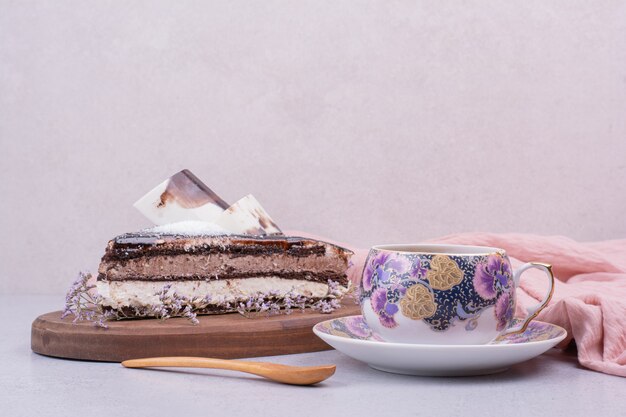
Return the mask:
{"type": "Polygon", "coordinates": [[[0,292],[64,291],[185,167],[362,246],[624,237],[626,4],[0,0],[0,292]]]}

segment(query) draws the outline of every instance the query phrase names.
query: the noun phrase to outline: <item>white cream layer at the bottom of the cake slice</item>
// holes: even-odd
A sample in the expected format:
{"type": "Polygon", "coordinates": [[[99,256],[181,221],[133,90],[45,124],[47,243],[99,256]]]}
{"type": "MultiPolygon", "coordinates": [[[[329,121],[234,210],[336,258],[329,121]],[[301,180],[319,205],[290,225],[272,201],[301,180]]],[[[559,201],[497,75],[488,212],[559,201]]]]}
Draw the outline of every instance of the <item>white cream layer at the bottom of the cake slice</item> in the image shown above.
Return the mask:
{"type": "MultiPolygon", "coordinates": [[[[277,297],[292,292],[306,297],[322,298],[328,294],[328,284],[279,277],[233,278],[217,281],[97,281],[102,304],[111,308],[159,305],[157,295],[165,285],[190,299],[202,299],[207,294],[210,304],[243,300],[251,295],[274,291],[277,297]]],[[[347,288],[342,290],[347,291],[347,288]]]]}

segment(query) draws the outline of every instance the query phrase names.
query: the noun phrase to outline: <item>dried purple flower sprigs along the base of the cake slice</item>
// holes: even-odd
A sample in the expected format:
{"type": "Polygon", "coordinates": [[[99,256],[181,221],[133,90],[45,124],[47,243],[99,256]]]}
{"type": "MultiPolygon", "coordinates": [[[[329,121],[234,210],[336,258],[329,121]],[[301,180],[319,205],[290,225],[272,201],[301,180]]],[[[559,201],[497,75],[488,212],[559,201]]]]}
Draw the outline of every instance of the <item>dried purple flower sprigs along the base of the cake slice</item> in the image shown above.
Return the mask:
{"type": "Polygon", "coordinates": [[[106,321],[138,317],[155,317],[162,320],[170,317],[186,317],[192,324],[198,324],[198,313],[206,312],[209,306],[222,311],[237,311],[249,318],[263,314],[267,316],[281,313],[291,314],[294,309],[304,311],[306,307],[320,313],[332,313],[341,307],[339,299],[346,292],[346,289],[337,282],[329,280],[328,292],[321,299],[306,297],[294,291],[290,291],[284,297],[279,298],[278,292],[269,291],[260,292],[233,303],[223,298],[212,300],[209,294],[204,297],[189,298],[175,291],[170,291],[171,285],[168,284],[155,294],[159,297],[158,304],[134,307],[133,314],[129,315],[123,310],[105,308],[102,304],[102,297],[92,291],[95,285],[89,285],[91,278],[89,273],[79,273],[65,298],[62,318],[73,314],[75,323],[85,320],[93,322],[98,327],[106,328],[108,327],[106,321]]]}

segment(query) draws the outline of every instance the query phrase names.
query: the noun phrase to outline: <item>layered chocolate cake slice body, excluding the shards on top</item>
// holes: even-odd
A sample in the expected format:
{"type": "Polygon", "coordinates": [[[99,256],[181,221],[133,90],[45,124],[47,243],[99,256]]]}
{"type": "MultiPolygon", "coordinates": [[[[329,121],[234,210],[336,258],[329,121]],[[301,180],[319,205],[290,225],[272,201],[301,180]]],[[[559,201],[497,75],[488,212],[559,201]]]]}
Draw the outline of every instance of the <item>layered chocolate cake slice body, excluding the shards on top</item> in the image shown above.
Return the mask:
{"type": "Polygon", "coordinates": [[[176,294],[201,314],[313,305],[323,310],[348,289],[347,249],[210,227],[184,222],[111,240],[98,270],[102,306],[121,317],[159,316],[168,303],[164,295],[176,294]]]}

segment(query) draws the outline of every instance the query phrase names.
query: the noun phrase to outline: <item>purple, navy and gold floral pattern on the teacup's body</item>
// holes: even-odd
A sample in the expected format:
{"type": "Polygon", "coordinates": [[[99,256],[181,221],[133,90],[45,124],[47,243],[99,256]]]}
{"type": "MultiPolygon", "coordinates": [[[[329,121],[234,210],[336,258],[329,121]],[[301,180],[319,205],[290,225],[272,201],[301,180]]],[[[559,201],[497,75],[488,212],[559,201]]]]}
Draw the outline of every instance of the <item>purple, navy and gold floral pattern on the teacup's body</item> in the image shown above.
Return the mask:
{"type": "Polygon", "coordinates": [[[513,276],[503,253],[487,256],[416,255],[373,252],[361,283],[361,302],[369,302],[380,323],[398,325],[398,313],[445,331],[455,322],[473,330],[487,307],[494,307],[497,330],[515,310],[513,276]]]}

